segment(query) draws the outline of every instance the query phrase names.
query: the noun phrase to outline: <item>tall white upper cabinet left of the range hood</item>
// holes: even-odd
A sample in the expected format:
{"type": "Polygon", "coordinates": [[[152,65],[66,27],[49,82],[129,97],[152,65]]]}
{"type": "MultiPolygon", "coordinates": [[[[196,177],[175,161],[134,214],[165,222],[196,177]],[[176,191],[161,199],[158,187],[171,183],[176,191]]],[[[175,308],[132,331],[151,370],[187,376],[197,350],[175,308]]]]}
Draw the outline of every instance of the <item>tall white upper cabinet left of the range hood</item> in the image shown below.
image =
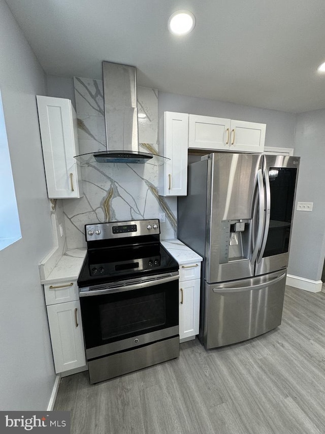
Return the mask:
{"type": "Polygon", "coordinates": [[[37,96],[49,198],[82,196],[77,115],[70,99],[37,96]]]}

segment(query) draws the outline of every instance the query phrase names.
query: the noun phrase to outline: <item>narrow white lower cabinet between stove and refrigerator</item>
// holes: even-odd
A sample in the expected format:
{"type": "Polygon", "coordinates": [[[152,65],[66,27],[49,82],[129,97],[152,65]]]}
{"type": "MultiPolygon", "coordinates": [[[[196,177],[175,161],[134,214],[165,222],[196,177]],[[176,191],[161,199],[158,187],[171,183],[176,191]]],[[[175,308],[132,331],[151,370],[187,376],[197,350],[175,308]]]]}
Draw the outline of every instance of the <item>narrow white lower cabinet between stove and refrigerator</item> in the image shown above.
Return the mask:
{"type": "Polygon", "coordinates": [[[200,262],[180,265],[179,340],[195,339],[200,320],[200,262]]]}

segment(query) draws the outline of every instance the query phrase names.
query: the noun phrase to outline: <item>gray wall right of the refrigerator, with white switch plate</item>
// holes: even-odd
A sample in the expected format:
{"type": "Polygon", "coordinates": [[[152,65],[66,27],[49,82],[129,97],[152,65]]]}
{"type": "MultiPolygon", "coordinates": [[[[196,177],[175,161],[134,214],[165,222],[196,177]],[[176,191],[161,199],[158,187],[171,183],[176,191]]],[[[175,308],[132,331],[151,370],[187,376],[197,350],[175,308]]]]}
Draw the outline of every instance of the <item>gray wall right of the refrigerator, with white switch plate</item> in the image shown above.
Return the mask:
{"type": "Polygon", "coordinates": [[[296,211],[289,274],[320,280],[325,255],[325,110],[297,115],[295,155],[301,157],[297,201],[313,211],[296,211]]]}

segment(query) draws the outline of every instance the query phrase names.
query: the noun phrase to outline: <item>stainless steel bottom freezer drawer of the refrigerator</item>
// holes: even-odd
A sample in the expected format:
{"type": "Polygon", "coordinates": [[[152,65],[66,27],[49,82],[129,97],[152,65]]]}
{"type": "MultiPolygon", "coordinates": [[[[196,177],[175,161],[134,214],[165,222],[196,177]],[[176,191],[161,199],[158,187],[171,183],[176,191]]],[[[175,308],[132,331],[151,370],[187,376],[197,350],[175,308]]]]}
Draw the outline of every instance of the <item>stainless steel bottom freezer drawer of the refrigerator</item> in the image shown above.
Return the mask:
{"type": "Polygon", "coordinates": [[[234,344],[281,324],[286,270],[232,282],[205,283],[203,343],[234,344]]]}

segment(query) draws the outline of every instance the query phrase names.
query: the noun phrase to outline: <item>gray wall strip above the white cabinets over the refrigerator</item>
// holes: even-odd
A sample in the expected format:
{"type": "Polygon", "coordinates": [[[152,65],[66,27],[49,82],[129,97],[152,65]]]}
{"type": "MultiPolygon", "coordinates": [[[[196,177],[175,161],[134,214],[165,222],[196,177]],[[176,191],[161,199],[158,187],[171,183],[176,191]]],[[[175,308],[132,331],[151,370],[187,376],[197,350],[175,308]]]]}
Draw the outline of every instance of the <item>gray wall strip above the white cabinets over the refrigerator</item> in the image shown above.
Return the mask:
{"type": "Polygon", "coordinates": [[[266,123],[265,146],[294,148],[296,115],[276,110],[257,109],[214,99],[158,92],[158,120],[164,112],[191,113],[248,122],[266,123]]]}

